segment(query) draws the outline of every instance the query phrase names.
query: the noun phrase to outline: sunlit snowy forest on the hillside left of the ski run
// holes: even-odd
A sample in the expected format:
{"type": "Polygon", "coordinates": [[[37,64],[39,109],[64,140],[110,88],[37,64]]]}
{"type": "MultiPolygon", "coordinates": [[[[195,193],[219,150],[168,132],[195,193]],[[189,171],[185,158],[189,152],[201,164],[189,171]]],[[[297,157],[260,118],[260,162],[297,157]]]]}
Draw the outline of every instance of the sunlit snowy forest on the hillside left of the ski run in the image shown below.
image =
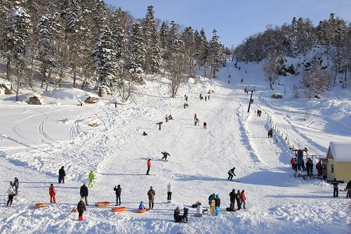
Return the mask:
{"type": "Polygon", "coordinates": [[[163,67],[174,98],[196,65],[210,78],[222,65],[216,30],[208,41],[204,30],[155,19],[153,6],[144,19],[102,0],[4,0],[0,7],[1,58],[8,92],[17,95],[36,82],[46,90],[50,82],[65,82],[80,89],[91,84],[99,96],[119,93],[126,100],[135,84],[143,84],[142,74],[163,67]],[[36,63],[41,80],[34,79],[36,63]]]}

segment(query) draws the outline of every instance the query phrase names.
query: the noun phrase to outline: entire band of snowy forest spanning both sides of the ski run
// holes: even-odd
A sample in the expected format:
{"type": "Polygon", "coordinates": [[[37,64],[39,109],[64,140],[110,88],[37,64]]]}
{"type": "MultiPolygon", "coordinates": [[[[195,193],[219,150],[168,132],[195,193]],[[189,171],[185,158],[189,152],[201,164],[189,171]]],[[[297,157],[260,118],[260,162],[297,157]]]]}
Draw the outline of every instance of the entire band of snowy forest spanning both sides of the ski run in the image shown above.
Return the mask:
{"type": "Polygon", "coordinates": [[[272,90],[279,75],[303,74],[301,84],[319,94],[336,84],[339,74],[346,83],[351,67],[351,24],[334,13],[317,27],[308,18],[295,17],[291,24],[267,26],[229,49],[216,29],[208,40],[204,29],[154,18],[153,6],[145,9],[143,19],[102,0],[4,0],[0,7],[4,78],[11,82],[7,92],[17,97],[23,87],[48,91],[49,84],[65,83],[127,100],[145,83],[143,74],[163,72],[175,98],[180,84],[200,69],[204,77],[216,78],[225,55],[246,63],[264,61],[272,90]],[[315,48],[323,48],[322,54],[306,60],[315,48]],[[286,56],[300,62],[289,64],[286,56]]]}

